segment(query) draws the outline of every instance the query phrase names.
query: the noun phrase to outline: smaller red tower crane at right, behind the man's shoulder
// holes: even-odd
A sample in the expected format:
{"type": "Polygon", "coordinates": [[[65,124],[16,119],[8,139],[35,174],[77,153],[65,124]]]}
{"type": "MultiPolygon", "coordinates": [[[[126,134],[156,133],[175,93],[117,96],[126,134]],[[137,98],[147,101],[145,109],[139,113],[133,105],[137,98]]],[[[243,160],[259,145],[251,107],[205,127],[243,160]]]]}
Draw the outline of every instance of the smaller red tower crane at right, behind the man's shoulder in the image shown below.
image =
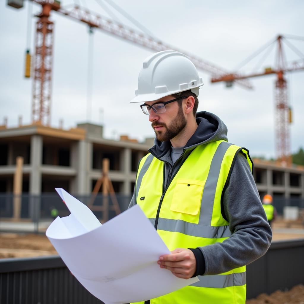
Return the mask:
{"type": "MultiPolygon", "coordinates": [[[[277,80],[275,81],[275,137],[276,137],[276,153],[279,161],[291,165],[291,152],[290,152],[290,135],[289,123],[291,123],[291,110],[288,106],[287,95],[287,81],[285,74],[287,72],[304,70],[304,55],[301,54],[301,60],[288,63],[285,58],[285,53],[282,47],[282,41],[285,38],[279,35],[273,43],[277,43],[277,54],[275,60],[275,68],[266,68],[263,73],[254,73],[247,75],[240,75],[236,73],[222,74],[211,79],[211,82],[225,81],[227,87],[231,87],[233,81],[244,80],[251,77],[265,76],[276,74],[277,80]]],[[[286,39],[285,39],[286,40],[286,39]]],[[[300,39],[304,40],[304,39],[300,39]]],[[[285,41],[286,43],[286,41],[285,41]]],[[[270,44],[270,45],[271,45],[270,44]]],[[[269,45],[268,45],[269,47],[269,45]]],[[[295,49],[295,48],[294,48],[295,49]]]]}

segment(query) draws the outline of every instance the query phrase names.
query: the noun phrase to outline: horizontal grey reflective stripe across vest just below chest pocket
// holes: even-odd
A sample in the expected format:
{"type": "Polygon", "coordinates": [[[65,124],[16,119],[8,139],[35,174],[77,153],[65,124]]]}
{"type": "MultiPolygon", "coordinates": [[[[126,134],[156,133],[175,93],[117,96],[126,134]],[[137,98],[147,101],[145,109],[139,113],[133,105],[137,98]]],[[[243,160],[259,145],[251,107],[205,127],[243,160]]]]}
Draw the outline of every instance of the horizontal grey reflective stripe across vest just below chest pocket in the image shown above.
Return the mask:
{"type": "MultiPolygon", "coordinates": [[[[154,225],[155,218],[149,219],[154,225]]],[[[209,239],[217,239],[220,237],[230,237],[231,232],[229,226],[207,226],[185,222],[181,219],[163,219],[159,218],[157,230],[170,232],[180,232],[193,237],[206,237],[209,239]]]]}

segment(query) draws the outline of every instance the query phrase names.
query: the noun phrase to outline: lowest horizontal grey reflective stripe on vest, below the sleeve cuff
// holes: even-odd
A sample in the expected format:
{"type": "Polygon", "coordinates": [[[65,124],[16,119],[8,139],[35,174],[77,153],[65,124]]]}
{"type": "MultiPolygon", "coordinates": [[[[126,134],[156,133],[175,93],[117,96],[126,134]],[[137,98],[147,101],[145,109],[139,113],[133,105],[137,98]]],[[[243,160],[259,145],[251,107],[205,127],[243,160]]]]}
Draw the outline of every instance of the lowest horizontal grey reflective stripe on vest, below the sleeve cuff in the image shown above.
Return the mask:
{"type": "Polygon", "coordinates": [[[199,275],[198,278],[199,282],[195,282],[190,286],[225,288],[246,284],[246,272],[232,273],[231,275],[199,275]]]}

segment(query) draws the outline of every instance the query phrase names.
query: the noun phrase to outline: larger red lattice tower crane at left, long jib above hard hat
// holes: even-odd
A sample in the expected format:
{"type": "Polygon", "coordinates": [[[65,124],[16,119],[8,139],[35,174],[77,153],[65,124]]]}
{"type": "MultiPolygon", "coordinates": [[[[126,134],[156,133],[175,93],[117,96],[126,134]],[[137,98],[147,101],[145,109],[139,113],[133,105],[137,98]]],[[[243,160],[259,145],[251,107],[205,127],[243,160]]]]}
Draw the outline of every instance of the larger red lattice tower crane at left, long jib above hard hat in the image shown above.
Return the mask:
{"type": "MultiPolygon", "coordinates": [[[[8,5],[20,8],[23,5],[22,0],[7,0],[8,5]]],[[[36,42],[35,57],[33,66],[33,99],[32,99],[32,121],[40,122],[44,125],[50,124],[50,105],[51,105],[51,83],[52,83],[52,62],[53,62],[53,41],[54,41],[54,22],[50,20],[51,11],[86,23],[91,29],[96,28],[105,33],[122,38],[138,46],[153,51],[177,50],[178,48],[164,44],[150,35],[142,33],[129,26],[123,25],[113,19],[97,15],[79,5],[62,7],[56,0],[29,0],[41,5],[40,14],[36,15],[36,42]]],[[[211,64],[192,54],[181,51],[186,54],[195,66],[211,75],[227,73],[221,67],[211,64]]],[[[29,57],[27,57],[29,58],[29,57]]],[[[29,60],[28,60],[29,63],[29,60]]],[[[28,68],[29,70],[29,68],[28,68]]],[[[236,83],[252,88],[247,79],[236,80],[236,83]]]]}

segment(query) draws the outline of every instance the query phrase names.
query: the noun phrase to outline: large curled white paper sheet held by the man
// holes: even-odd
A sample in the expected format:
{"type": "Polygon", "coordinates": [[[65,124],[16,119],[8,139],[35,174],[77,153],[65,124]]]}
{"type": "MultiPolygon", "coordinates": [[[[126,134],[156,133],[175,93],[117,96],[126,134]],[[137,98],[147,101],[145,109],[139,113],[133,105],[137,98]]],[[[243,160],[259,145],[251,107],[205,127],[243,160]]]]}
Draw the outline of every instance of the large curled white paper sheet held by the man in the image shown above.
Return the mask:
{"type": "Polygon", "coordinates": [[[175,277],[157,264],[170,251],[138,205],[104,225],[92,211],[56,188],[71,214],[46,235],[78,281],[106,304],[139,302],[198,281],[175,277]]]}

